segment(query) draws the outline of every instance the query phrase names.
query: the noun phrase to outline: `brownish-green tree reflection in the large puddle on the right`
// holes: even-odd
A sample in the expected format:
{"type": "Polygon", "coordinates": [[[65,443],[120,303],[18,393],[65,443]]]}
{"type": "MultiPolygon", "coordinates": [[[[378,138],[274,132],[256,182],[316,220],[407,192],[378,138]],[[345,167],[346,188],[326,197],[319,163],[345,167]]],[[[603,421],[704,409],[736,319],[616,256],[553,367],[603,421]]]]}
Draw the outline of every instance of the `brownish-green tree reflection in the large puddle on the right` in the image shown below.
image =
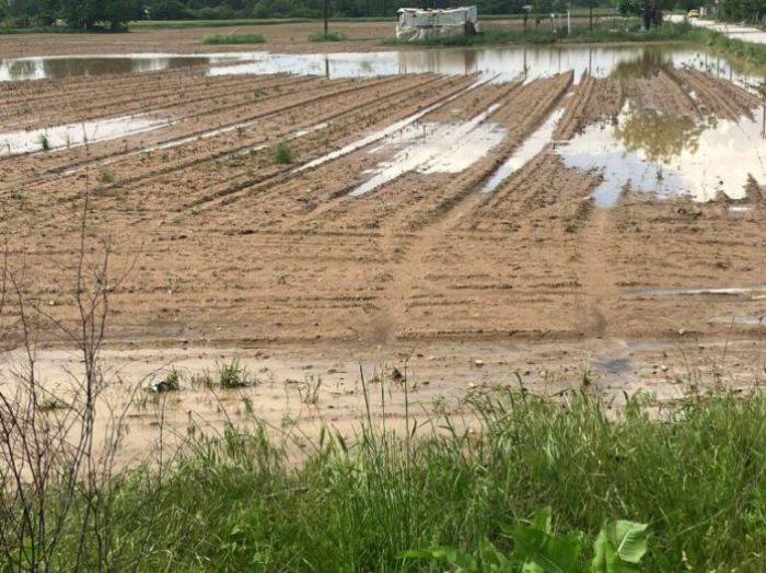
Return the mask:
{"type": "Polygon", "coordinates": [[[699,136],[715,125],[712,117],[699,120],[651,109],[628,109],[615,126],[614,138],[627,151],[642,151],[647,161],[668,163],[684,150],[695,153],[699,148],[699,136]]]}

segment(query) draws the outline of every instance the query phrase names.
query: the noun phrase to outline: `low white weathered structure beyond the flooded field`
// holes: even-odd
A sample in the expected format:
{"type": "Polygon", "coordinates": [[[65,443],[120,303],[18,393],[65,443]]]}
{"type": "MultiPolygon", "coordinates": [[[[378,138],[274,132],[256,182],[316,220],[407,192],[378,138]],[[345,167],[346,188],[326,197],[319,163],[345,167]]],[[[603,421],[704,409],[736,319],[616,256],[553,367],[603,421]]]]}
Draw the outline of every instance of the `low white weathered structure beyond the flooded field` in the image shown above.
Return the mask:
{"type": "Polygon", "coordinates": [[[475,5],[448,10],[401,8],[397,13],[397,39],[430,40],[478,32],[478,12],[475,5]]]}

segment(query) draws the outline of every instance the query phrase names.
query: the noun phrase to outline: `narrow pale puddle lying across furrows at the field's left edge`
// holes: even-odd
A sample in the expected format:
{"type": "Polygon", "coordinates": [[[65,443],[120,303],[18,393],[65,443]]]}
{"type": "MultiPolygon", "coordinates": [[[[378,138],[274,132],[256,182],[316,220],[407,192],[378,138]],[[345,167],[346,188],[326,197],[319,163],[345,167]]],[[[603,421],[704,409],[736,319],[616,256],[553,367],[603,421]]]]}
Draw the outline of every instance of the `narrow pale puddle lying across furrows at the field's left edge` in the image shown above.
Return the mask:
{"type": "Polygon", "coordinates": [[[124,116],[30,131],[11,131],[0,133],[0,156],[44,151],[46,144],[50,150],[74,148],[85,143],[142,133],[167,125],[167,119],[124,116]]]}

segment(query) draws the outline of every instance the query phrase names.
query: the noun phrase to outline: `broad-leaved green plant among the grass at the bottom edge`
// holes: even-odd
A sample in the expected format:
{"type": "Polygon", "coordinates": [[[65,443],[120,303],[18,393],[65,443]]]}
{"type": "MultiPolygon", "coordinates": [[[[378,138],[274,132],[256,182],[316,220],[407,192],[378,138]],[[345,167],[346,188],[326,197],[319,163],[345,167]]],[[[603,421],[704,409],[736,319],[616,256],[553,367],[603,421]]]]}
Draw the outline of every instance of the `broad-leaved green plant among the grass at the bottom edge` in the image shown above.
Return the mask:
{"type": "Polygon", "coordinates": [[[555,535],[548,507],[537,512],[531,525],[506,529],[506,537],[513,542],[513,550],[509,553],[498,550],[484,538],[472,553],[452,547],[434,547],[405,551],[402,557],[444,562],[465,573],[638,572],[647,553],[647,524],[622,519],[605,524],[593,541],[590,558],[587,558],[585,534],[573,530],[562,536],[555,535]]]}

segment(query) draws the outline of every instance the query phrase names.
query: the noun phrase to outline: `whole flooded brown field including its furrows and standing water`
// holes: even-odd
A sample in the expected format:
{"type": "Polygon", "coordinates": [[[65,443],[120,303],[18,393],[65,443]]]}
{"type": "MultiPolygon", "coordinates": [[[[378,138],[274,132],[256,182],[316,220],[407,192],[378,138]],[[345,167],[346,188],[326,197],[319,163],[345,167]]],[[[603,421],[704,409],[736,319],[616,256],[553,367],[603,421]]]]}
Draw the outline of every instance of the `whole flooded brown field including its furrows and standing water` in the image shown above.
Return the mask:
{"type": "MultiPolygon", "coordinates": [[[[461,387],[549,383],[545,363],[560,383],[587,369],[660,391],[677,348],[761,360],[762,79],[720,58],[260,51],[0,70],[3,234],[18,292],[45,309],[40,344],[78,320],[88,197],[86,262],[108,244],[114,269],[107,340],[167,349],[136,354],[147,369],[201,367],[187,350],[218,348],[254,372],[320,363],[306,371],[344,396],[348,356],[415,356],[440,393],[450,370],[461,387]]],[[[20,309],[4,315],[12,347],[20,309]]]]}

